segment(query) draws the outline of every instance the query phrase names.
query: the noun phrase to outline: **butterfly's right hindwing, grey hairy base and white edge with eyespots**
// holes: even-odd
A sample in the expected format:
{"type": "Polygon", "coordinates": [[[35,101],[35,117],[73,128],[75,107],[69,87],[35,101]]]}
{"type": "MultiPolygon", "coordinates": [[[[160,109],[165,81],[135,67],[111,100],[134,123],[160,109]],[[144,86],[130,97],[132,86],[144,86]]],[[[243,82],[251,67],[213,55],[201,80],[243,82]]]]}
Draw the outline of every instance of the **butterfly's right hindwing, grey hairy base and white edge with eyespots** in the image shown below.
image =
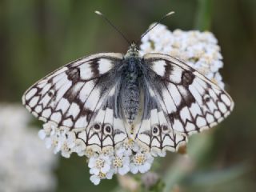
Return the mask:
{"type": "Polygon", "coordinates": [[[186,145],[187,137],[172,129],[166,110],[162,110],[162,100],[158,97],[161,82],[151,76],[153,71],[144,70],[145,83],[143,87],[143,114],[142,121],[135,128],[135,140],[150,150],[152,154],[164,156],[166,150],[178,151],[180,146],[186,145]]]}

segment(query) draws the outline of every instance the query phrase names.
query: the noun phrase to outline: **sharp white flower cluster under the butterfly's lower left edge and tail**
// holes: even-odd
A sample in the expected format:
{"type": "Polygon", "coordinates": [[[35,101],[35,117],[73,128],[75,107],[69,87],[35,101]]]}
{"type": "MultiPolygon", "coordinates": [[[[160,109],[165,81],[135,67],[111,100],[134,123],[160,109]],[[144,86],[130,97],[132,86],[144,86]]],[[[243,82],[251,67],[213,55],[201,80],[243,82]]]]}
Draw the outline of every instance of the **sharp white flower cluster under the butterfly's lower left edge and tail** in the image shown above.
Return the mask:
{"type": "Polygon", "coordinates": [[[45,140],[47,148],[52,148],[54,153],[61,152],[65,158],[70,158],[71,153],[85,155],[89,159],[90,181],[94,185],[98,185],[101,179],[113,178],[114,174],[146,173],[154,161],[152,155],[156,155],[141,149],[132,139],[126,140],[115,150],[105,148],[98,151],[94,147],[86,147],[81,139],[85,131],[65,130],[55,126],[53,122],[45,123],[38,134],[45,140]]]}

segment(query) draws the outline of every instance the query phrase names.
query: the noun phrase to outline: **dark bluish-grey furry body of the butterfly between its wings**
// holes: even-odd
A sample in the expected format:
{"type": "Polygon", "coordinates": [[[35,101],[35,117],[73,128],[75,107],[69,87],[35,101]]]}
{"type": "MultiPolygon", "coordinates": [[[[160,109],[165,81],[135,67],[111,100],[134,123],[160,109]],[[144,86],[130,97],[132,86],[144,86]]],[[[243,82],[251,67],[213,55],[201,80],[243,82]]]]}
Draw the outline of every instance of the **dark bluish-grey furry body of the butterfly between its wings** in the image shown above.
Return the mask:
{"type": "Polygon", "coordinates": [[[142,74],[140,69],[141,58],[134,43],[131,44],[125,55],[125,69],[122,74],[121,105],[122,112],[129,124],[132,124],[138,116],[140,106],[139,79],[142,74]]]}

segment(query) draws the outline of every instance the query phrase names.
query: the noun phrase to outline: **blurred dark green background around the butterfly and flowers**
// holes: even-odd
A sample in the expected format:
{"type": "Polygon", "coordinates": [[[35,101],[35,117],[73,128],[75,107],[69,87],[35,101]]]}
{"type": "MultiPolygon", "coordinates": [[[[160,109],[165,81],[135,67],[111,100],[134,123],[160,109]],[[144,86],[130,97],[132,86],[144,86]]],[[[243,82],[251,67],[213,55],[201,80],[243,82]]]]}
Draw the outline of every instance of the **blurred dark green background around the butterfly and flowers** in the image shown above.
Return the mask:
{"type": "MultiPolygon", "coordinates": [[[[190,139],[192,166],[178,161],[184,155],[169,153],[153,170],[162,175],[166,191],[256,191],[255,0],[1,0],[0,102],[21,102],[30,85],[75,58],[125,53],[126,42],[94,10],[134,40],[170,10],[174,16],[163,22],[170,30],[214,33],[234,112],[217,128],[190,139]]],[[[60,158],[54,171],[57,191],[125,191],[116,178],[93,186],[86,159],[76,155],[60,158]]]]}

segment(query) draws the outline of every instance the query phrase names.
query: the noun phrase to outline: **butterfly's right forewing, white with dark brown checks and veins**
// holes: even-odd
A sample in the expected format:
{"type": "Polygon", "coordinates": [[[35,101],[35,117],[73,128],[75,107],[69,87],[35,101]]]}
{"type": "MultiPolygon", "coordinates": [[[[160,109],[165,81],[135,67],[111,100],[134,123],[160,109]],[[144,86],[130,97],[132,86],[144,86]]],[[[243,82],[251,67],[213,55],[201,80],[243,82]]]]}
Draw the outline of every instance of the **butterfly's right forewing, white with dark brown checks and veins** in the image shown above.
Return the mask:
{"type": "Polygon", "coordinates": [[[159,127],[190,135],[217,125],[233,110],[234,102],[225,90],[178,59],[146,54],[142,62],[148,67],[150,95],[159,104],[159,127]]]}

